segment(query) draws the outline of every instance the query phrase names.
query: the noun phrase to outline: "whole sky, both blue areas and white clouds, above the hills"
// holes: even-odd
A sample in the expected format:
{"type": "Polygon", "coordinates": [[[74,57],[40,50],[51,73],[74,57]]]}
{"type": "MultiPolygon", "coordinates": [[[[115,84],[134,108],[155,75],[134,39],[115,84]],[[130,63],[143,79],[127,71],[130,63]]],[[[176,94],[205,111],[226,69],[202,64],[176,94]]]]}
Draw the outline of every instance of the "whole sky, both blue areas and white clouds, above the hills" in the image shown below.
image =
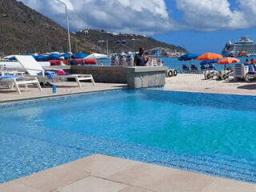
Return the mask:
{"type": "MultiPolygon", "coordinates": [[[[57,0],[19,0],[66,28],[57,0]]],[[[221,53],[242,36],[256,41],[256,0],[60,0],[72,31],[146,34],[191,53],[221,53]]]]}

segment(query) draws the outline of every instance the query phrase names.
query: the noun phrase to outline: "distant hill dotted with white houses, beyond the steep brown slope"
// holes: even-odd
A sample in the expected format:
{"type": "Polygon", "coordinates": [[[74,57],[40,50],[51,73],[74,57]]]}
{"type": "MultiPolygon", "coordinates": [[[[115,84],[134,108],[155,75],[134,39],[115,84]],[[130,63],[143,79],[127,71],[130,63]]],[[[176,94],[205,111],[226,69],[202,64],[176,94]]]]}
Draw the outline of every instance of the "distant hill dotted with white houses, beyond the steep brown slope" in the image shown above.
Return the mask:
{"type": "Polygon", "coordinates": [[[154,38],[146,37],[140,34],[116,34],[110,33],[106,30],[80,30],[76,33],[79,38],[94,45],[101,47],[102,52],[106,53],[107,45],[109,53],[119,53],[122,50],[138,51],[139,47],[144,47],[145,50],[164,50],[165,52],[186,52],[181,46],[174,46],[165,42],[158,42],[154,38]],[[117,42],[125,41],[126,44],[118,44],[117,42]],[[107,43],[106,43],[107,42],[107,43]]]}

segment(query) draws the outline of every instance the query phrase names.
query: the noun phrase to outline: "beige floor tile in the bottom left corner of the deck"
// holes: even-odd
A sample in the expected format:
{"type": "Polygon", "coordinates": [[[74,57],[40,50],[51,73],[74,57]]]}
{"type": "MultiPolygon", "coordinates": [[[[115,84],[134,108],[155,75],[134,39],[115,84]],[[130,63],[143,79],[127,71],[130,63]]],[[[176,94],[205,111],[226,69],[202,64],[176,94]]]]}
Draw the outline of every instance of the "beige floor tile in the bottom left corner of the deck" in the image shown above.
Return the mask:
{"type": "Polygon", "coordinates": [[[4,184],[0,184],[1,192],[40,192],[39,190],[35,190],[30,188],[29,186],[24,186],[15,182],[7,182],[4,184]]]}

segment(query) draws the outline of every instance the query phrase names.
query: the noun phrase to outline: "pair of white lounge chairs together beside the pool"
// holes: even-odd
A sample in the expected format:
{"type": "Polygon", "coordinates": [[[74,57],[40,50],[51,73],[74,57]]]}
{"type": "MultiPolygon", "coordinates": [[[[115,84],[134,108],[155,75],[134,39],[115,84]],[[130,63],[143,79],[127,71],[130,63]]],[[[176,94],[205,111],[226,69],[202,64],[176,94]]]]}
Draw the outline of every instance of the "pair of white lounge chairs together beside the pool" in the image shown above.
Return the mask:
{"type": "MultiPolygon", "coordinates": [[[[21,94],[21,90],[19,89],[19,86],[24,85],[27,87],[27,85],[35,85],[38,87],[40,91],[42,91],[42,88],[40,86],[40,83],[43,85],[62,80],[66,81],[67,78],[74,78],[75,82],[78,83],[78,86],[82,88],[81,81],[83,80],[90,80],[93,85],[95,86],[94,78],[91,74],[54,74],[52,76],[46,75],[46,70],[42,68],[42,66],[32,57],[32,56],[23,56],[23,55],[16,55],[15,58],[18,60],[18,62],[22,65],[24,70],[26,70],[26,73],[28,75],[26,76],[15,76],[10,74],[4,74],[0,76],[0,82],[1,84],[4,84],[8,86],[10,89],[16,89],[18,94],[21,94]]],[[[49,70],[54,70],[50,68],[49,70]]],[[[59,69],[56,69],[59,70],[59,69]]],[[[50,74],[49,71],[47,71],[48,74],[50,74]]]]}

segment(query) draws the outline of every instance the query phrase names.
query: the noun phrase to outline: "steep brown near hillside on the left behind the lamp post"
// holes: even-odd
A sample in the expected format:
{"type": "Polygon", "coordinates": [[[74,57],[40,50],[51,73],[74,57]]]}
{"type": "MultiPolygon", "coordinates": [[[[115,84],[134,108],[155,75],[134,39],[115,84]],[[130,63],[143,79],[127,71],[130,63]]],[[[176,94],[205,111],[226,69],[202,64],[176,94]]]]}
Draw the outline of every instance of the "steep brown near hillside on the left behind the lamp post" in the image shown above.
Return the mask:
{"type": "MultiPolygon", "coordinates": [[[[62,26],[22,2],[0,0],[0,54],[67,51],[67,33],[62,26]]],[[[98,46],[71,34],[72,50],[98,51],[98,46]]]]}

